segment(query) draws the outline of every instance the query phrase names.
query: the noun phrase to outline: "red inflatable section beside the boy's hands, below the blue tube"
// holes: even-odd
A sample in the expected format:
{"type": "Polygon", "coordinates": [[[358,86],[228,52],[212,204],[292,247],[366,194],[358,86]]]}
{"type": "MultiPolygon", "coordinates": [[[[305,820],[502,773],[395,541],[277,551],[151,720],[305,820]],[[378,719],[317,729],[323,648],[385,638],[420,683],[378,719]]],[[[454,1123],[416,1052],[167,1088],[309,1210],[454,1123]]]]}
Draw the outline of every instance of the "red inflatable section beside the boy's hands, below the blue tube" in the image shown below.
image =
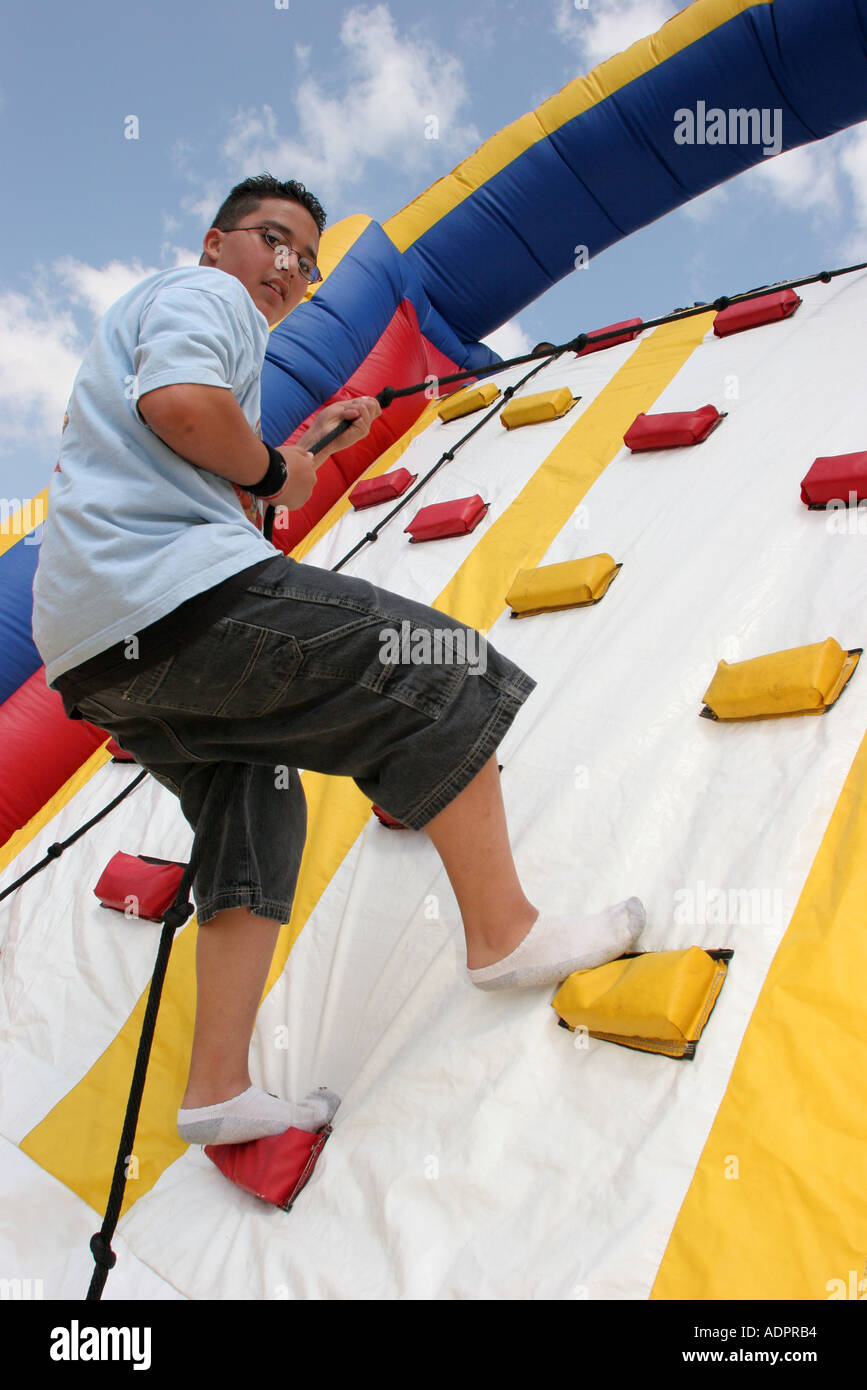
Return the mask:
{"type": "MultiPolygon", "coordinates": [[[[325,404],[331,404],[333,400],[347,400],[353,396],[375,396],[386,384],[396,388],[413,386],[417,381],[424,381],[425,377],[447,377],[457,370],[449,357],[422,336],[415,310],[404,299],[358,370],[325,404]]],[[[450,395],[463,385],[465,382],[446,386],[440,395],[450,395]]],[[[400,396],[374,421],[365,439],[327,459],[317,473],[317,484],[308,502],[297,512],[282,513],[278,518],[283,524],[275,524],[272,543],[289,555],[293,546],[315,525],[317,520],[343,496],[356,478],[360,478],[379,455],[385,453],[404,431],[415,424],[427,404],[428,396],[424,391],[418,391],[413,396],[400,396]]],[[[318,410],[308,416],[283,442],[295,443],[299,435],[310,428],[317,414],[318,410]]]]}

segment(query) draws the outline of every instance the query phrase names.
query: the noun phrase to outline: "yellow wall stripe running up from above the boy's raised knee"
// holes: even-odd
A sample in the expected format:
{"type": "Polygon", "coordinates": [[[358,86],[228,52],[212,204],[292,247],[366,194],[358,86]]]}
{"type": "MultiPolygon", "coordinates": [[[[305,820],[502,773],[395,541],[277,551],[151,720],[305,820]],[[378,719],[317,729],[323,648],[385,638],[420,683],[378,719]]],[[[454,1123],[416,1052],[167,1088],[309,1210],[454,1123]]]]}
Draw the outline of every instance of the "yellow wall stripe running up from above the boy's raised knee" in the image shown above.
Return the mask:
{"type": "Polygon", "coordinates": [[[482,631],[492,627],[518,570],[534,570],[542,562],[581,499],[624,448],[622,436],[635,416],[647,411],[677,375],[713,317],[711,311],[663,324],[639,343],[509,510],[488,527],[435,607],[482,631]]]}

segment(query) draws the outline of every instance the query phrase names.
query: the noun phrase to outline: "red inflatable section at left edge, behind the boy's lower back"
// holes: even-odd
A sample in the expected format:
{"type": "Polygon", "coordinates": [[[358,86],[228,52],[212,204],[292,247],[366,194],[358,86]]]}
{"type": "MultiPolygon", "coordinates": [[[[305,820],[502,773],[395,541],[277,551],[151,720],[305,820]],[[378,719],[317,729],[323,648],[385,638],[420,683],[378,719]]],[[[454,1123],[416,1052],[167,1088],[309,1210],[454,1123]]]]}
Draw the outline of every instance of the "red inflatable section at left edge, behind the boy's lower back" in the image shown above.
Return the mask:
{"type": "Polygon", "coordinates": [[[42,810],[107,738],[94,724],[67,719],[60,695],[44,682],[44,666],[33,671],[0,705],[0,845],[42,810]]]}

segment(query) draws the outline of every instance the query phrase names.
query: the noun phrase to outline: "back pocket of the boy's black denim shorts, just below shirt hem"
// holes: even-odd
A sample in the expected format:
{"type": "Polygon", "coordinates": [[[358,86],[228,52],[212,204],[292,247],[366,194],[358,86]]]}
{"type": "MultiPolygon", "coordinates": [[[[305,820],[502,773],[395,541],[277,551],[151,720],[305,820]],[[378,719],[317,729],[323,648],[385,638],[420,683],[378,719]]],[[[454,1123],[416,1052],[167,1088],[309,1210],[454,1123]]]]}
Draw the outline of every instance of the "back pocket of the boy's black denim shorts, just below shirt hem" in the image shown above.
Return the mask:
{"type": "Polygon", "coordinates": [[[303,656],[285,632],[221,617],[121,691],[125,703],[225,719],[268,714],[303,656]]]}

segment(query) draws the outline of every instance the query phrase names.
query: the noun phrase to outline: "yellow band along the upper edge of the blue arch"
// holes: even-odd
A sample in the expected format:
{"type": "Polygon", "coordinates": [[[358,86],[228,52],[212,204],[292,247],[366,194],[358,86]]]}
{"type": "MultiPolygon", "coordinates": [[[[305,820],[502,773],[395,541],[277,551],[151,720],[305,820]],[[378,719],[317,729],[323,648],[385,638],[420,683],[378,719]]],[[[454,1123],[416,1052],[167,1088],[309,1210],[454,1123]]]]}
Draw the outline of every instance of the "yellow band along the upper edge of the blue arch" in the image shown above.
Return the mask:
{"type": "Polygon", "coordinates": [[[697,0],[668,19],[657,33],[639,39],[624,53],[602,63],[588,76],[575,78],[549,97],[535,111],[513,121],[485,140],[472,154],[445,178],[438,179],[424,193],[383,224],[395,246],[404,252],[439,222],[452,208],[482,188],[495,174],[524,154],[553,131],[599,101],[618,92],[652,68],[681,53],[713,29],[734,19],[745,10],[773,0],[697,0]]]}

